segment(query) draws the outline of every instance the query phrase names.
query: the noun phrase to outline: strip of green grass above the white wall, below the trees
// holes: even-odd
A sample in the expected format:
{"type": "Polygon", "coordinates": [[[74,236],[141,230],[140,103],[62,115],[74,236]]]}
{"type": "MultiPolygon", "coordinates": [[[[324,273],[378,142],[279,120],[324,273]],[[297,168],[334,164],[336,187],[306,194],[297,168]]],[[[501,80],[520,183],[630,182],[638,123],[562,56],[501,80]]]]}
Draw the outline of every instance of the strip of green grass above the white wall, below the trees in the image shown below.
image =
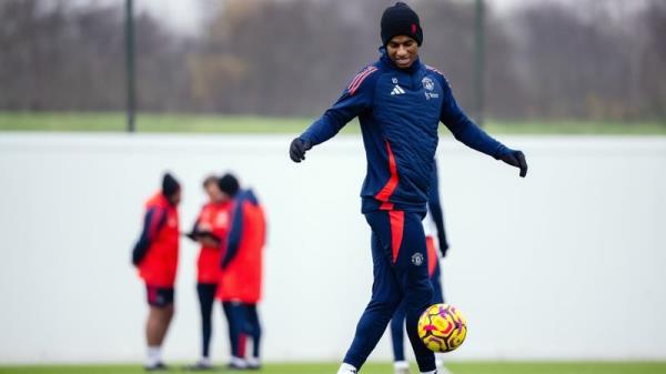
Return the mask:
{"type": "MultiPolygon", "coordinates": [[[[251,115],[149,114],[139,113],[139,132],[182,133],[301,133],[312,118],[268,118],[251,115]]],[[[666,134],[664,122],[595,122],[595,121],[488,121],[491,133],[516,134],[666,134]]],[[[442,128],[443,129],[443,128],[442,128]]],[[[0,131],[125,131],[123,113],[49,113],[0,112],[0,131]]],[[[445,130],[442,130],[445,132],[445,130]]],[[[343,129],[360,132],[356,123],[343,129]]]]}

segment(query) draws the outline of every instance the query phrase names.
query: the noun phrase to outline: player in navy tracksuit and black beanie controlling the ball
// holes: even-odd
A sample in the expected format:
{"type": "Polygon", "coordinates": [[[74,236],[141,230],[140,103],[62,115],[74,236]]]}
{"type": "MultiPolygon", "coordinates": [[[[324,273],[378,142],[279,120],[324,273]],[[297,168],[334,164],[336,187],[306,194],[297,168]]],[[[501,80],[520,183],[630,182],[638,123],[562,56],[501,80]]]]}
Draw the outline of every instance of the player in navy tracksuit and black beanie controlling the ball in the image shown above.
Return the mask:
{"type": "Polygon", "coordinates": [[[438,122],[464,144],[527,173],[523,152],[512,150],[474,124],[457,105],[444,75],[421,62],[418,16],[397,2],[382,14],[379,61],[362,69],[340,99],[290,145],[294,162],[359,117],[367,175],[362,212],[372,229],[372,297],[339,374],[356,373],[404,299],[406,330],[421,373],[436,373],[434,353],[421,342],[416,325],[431,304],[425,234],[431,173],[438,122]]]}

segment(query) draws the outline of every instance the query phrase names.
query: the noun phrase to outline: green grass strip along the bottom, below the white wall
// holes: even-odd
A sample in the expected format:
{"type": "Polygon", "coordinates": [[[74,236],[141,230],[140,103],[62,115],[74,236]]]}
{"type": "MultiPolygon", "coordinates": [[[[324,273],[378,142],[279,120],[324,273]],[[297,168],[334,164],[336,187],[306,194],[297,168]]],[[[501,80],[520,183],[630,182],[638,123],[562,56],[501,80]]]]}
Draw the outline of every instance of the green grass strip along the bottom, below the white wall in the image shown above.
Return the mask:
{"type": "MultiPolygon", "coordinates": [[[[451,363],[454,374],[666,374],[665,363],[451,363]]],[[[260,374],[335,374],[337,364],[268,364],[260,374]]],[[[413,373],[418,373],[412,370],[413,373]]],[[[0,366],[0,374],[140,374],[140,365],[0,366]]],[[[168,373],[185,373],[174,365],[168,373]]],[[[215,373],[238,373],[219,368],[215,373]]],[[[391,364],[369,363],[362,374],[392,374],[391,364]]]]}

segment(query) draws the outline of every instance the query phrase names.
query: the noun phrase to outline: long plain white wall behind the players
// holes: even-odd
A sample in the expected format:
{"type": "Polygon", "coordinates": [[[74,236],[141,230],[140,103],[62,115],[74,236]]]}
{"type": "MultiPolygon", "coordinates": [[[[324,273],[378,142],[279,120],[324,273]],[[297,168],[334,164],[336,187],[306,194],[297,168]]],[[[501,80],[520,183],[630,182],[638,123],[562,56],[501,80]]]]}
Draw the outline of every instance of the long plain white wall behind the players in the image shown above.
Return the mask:
{"type": "MultiPolygon", "coordinates": [[[[460,358],[666,358],[666,138],[502,137],[529,175],[450,139],[438,151],[460,358]]],[[[202,178],[236,171],[270,220],[265,356],[337,361],[370,295],[357,135],[287,159],[289,137],[0,135],[0,362],[139,361],[129,264],[142,204],[171,170],[189,228],[202,178]]],[[[199,352],[198,249],[182,242],[169,358],[199,352]]],[[[225,357],[216,312],[214,353],[225,357]]],[[[389,341],[372,356],[389,360],[389,341]]]]}

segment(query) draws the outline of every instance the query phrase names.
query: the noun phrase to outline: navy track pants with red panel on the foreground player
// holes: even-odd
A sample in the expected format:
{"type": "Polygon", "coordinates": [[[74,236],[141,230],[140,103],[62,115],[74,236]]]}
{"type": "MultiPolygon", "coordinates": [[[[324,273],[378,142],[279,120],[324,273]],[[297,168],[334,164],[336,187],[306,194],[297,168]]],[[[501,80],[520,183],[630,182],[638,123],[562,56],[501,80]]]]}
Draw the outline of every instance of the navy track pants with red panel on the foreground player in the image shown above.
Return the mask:
{"type": "Polygon", "coordinates": [[[344,358],[359,370],[377,345],[403,299],[407,336],[418,368],[421,372],[435,370],[435,354],[421,342],[416,327],[418,316],[431,305],[433,297],[422,219],[421,213],[405,211],[365,214],[372,229],[372,297],[344,358]]]}

